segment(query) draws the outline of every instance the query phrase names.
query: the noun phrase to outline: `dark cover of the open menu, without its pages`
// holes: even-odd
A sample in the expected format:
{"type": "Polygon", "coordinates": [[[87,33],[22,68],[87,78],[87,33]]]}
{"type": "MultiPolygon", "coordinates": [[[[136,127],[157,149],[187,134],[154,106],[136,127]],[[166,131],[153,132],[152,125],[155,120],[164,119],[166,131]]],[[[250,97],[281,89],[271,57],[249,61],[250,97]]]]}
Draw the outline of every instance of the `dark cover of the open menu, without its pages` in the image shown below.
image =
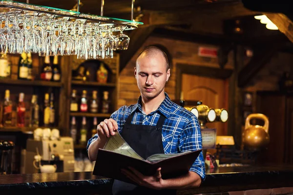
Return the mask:
{"type": "Polygon", "coordinates": [[[161,174],[163,179],[181,176],[188,173],[191,165],[199,156],[201,151],[202,150],[181,153],[177,156],[170,156],[159,161],[150,162],[112,151],[99,149],[93,175],[105,176],[128,183],[134,183],[120,171],[122,168],[127,169],[127,167],[130,166],[146,176],[154,175],[159,167],[162,168],[161,174]]]}

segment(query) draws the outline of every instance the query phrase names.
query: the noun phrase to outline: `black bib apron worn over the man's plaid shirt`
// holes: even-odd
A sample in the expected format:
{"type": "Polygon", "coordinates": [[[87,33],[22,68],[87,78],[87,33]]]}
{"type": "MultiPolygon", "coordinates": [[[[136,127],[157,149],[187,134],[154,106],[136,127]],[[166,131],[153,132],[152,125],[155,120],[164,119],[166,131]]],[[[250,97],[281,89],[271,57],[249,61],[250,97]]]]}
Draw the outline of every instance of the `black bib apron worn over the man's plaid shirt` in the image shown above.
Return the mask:
{"type": "MultiPolygon", "coordinates": [[[[121,136],[144,159],[154,154],[164,154],[162,128],[165,116],[160,116],[156,126],[133,125],[131,121],[134,113],[132,112],[127,117],[121,136]]],[[[112,193],[113,195],[176,195],[176,190],[153,190],[120,180],[114,180],[112,193]]]]}

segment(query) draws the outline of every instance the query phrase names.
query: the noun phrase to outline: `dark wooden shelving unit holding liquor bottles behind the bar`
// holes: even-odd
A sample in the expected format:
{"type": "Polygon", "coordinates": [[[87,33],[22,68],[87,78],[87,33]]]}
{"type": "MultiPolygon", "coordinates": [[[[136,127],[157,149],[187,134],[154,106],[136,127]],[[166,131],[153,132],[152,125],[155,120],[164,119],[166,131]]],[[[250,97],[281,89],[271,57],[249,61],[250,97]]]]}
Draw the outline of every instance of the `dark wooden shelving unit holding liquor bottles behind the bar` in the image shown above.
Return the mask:
{"type": "MultiPolygon", "coordinates": [[[[109,80],[107,83],[99,83],[91,79],[90,81],[80,81],[72,80],[72,71],[75,70],[81,63],[84,63],[84,59],[77,59],[76,56],[62,56],[59,57],[59,63],[62,72],[61,82],[52,82],[52,81],[43,81],[38,80],[41,67],[44,61],[44,57],[39,57],[37,54],[32,54],[33,58],[33,73],[36,76],[35,80],[18,80],[17,79],[17,66],[20,55],[11,55],[10,56],[12,64],[12,75],[11,78],[1,78],[0,79],[0,101],[2,103],[4,98],[4,92],[6,89],[9,89],[11,92],[11,98],[14,102],[14,120],[16,119],[16,105],[18,102],[19,93],[25,94],[26,109],[29,112],[29,103],[31,101],[31,96],[33,94],[38,95],[38,103],[40,109],[42,110],[42,105],[44,101],[44,94],[49,92],[54,92],[54,107],[55,107],[55,120],[56,128],[60,130],[60,136],[70,136],[70,122],[71,117],[76,117],[77,120],[77,144],[75,145],[76,149],[84,150],[86,145],[79,144],[80,139],[80,128],[81,128],[81,117],[86,117],[87,126],[88,126],[88,137],[91,136],[91,129],[93,129],[93,117],[97,117],[98,124],[100,121],[103,121],[105,118],[109,118],[111,114],[117,109],[117,97],[118,97],[118,74],[119,74],[119,54],[115,54],[114,59],[105,59],[102,60],[105,65],[110,69],[109,80]],[[109,101],[110,101],[110,110],[108,114],[103,113],[81,113],[81,112],[70,112],[70,99],[72,89],[76,89],[79,93],[78,99],[83,90],[87,90],[87,98],[91,99],[91,94],[93,90],[98,91],[98,98],[101,103],[103,91],[109,92],[109,101]]],[[[101,60],[91,60],[87,64],[89,67],[99,68],[101,60]]],[[[91,72],[91,74],[95,74],[91,72]]],[[[93,75],[93,76],[95,76],[93,75]]],[[[101,105],[99,105],[101,106],[101,105]]],[[[100,107],[101,108],[101,107],[100,107]]],[[[99,110],[99,112],[101,112],[99,110]]],[[[0,113],[2,110],[0,109],[0,113]]],[[[41,111],[42,113],[42,111],[41,111]]],[[[1,114],[0,114],[1,116],[1,114]]],[[[28,115],[26,116],[26,118],[28,115]]],[[[40,125],[42,124],[42,114],[40,115],[40,125]]],[[[44,128],[44,127],[41,127],[44,128]]],[[[52,127],[50,127],[52,129],[52,127]]],[[[7,132],[11,134],[19,133],[32,133],[35,128],[30,127],[0,127],[0,137],[5,136],[7,132]]]]}

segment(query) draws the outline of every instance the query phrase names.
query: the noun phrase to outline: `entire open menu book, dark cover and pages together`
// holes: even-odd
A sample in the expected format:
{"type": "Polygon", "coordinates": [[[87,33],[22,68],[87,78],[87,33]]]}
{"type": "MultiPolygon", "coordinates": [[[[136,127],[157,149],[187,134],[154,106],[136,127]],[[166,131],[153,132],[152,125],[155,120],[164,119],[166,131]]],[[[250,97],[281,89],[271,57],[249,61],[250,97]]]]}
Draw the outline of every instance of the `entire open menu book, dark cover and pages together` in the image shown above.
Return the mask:
{"type": "Polygon", "coordinates": [[[188,173],[200,152],[201,150],[178,154],[155,154],[144,159],[116,131],[114,136],[108,138],[104,149],[99,149],[93,175],[134,183],[121,173],[122,168],[133,167],[142,174],[151,176],[156,173],[157,168],[161,167],[163,179],[181,176],[188,173]]]}

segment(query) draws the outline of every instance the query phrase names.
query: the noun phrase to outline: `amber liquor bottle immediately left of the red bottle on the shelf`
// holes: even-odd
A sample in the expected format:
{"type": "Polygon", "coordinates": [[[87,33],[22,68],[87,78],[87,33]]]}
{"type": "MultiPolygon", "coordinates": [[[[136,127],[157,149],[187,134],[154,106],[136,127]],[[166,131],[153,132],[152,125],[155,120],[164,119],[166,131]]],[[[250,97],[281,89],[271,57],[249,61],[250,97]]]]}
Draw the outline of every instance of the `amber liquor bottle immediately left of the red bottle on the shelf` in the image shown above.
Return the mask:
{"type": "Polygon", "coordinates": [[[12,101],[10,100],[10,91],[5,90],[5,99],[3,102],[3,126],[12,125],[12,101]]]}

